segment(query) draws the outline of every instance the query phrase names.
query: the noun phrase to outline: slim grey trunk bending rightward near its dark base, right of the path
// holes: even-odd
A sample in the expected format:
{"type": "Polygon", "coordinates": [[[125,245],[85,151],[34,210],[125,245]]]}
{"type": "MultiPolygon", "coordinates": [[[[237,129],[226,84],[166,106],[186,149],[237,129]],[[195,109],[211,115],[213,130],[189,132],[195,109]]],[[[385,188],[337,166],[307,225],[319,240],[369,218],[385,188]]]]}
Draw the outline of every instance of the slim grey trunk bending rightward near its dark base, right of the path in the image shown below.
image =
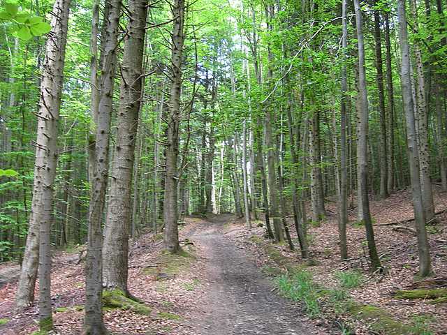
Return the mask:
{"type": "Polygon", "coordinates": [[[377,255],[374,230],[372,228],[371,214],[369,213],[368,198],[368,161],[367,161],[367,136],[368,136],[368,97],[365,73],[365,47],[363,40],[362,12],[359,0],[354,0],[356,10],[357,41],[358,41],[358,77],[359,77],[359,110],[357,128],[357,178],[358,188],[362,199],[362,221],[365,223],[368,243],[369,260],[373,270],[379,269],[381,263],[377,255]]]}

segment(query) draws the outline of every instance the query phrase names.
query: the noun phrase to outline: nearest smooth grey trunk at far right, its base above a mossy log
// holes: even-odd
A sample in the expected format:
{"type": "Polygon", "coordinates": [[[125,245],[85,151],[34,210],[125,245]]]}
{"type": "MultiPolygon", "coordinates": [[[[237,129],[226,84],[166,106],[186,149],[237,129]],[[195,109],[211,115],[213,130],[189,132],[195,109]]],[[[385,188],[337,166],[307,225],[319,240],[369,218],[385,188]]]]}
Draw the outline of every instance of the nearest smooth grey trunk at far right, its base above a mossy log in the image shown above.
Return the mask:
{"type": "Polygon", "coordinates": [[[410,47],[406,28],[405,1],[397,0],[397,18],[399,22],[400,52],[402,55],[402,99],[406,120],[406,145],[408,148],[411,193],[413,195],[413,209],[416,223],[419,253],[419,275],[428,276],[432,271],[430,260],[430,245],[425,230],[425,210],[423,193],[420,185],[420,171],[418,159],[418,142],[416,141],[416,124],[413,114],[413,99],[411,98],[411,70],[410,47]]]}

